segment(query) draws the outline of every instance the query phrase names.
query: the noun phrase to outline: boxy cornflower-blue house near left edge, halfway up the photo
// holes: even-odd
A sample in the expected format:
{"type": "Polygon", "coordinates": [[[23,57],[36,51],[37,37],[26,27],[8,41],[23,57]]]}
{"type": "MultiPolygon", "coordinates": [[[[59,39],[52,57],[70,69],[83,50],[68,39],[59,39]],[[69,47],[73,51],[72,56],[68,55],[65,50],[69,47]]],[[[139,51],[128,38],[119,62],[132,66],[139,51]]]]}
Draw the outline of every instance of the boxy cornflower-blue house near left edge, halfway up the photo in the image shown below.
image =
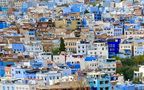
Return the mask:
{"type": "Polygon", "coordinates": [[[12,44],[12,50],[15,53],[20,53],[20,52],[24,52],[25,51],[25,46],[22,43],[13,43],[12,44]]]}

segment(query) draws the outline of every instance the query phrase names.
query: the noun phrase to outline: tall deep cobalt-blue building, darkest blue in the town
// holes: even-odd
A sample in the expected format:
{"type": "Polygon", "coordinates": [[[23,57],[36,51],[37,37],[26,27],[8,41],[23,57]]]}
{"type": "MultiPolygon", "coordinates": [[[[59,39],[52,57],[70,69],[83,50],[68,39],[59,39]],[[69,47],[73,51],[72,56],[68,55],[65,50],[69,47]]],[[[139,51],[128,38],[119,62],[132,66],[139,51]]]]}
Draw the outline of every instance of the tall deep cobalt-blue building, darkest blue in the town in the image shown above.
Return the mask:
{"type": "Polygon", "coordinates": [[[114,39],[108,39],[108,53],[109,53],[109,58],[112,58],[116,56],[119,53],[119,44],[121,42],[121,39],[119,38],[114,38],[114,39]]]}

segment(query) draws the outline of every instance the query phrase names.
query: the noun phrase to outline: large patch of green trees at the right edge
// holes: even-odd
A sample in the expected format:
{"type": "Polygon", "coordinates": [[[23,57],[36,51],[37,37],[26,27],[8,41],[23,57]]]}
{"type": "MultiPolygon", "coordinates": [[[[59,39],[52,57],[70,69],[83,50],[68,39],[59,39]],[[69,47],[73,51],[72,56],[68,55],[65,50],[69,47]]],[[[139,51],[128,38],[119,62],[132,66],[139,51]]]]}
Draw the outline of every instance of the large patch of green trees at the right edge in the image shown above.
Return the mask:
{"type": "MultiPolygon", "coordinates": [[[[126,59],[122,59],[118,57],[115,58],[121,60],[121,63],[123,65],[121,68],[117,68],[116,72],[123,74],[125,80],[128,79],[133,80],[133,74],[134,71],[138,70],[138,65],[144,64],[144,55],[139,55],[139,56],[126,58],[126,59]]],[[[135,80],[134,82],[137,82],[137,80],[135,80]]]]}

